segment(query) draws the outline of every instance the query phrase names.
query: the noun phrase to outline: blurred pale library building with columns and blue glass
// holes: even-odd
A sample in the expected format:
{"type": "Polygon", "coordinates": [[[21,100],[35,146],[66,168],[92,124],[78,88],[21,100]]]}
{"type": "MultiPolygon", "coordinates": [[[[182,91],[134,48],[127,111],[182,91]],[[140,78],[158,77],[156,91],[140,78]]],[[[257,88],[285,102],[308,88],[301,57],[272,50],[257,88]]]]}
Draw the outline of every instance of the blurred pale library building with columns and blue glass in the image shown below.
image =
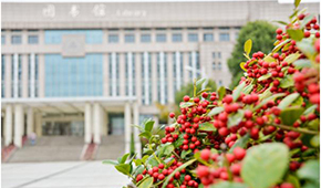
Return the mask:
{"type": "MultiPolygon", "coordinates": [[[[319,3],[303,7],[319,14],[319,3]]],[[[131,124],[157,119],[155,102],[174,103],[175,92],[200,70],[229,85],[227,59],[242,25],[287,21],[292,9],[278,1],[2,3],[7,160],[128,152],[131,124]],[[33,147],[25,139],[31,133],[38,136],[33,147]]]]}

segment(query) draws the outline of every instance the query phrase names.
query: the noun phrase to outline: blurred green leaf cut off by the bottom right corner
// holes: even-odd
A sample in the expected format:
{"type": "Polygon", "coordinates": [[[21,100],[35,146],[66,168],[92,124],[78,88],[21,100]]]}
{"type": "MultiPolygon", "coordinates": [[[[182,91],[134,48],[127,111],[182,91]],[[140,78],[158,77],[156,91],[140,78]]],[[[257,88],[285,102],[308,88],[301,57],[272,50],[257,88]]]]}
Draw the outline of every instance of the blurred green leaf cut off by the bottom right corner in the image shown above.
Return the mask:
{"type": "Polygon", "coordinates": [[[304,166],[298,170],[301,179],[308,179],[320,187],[320,163],[318,160],[308,160],[304,166]]]}

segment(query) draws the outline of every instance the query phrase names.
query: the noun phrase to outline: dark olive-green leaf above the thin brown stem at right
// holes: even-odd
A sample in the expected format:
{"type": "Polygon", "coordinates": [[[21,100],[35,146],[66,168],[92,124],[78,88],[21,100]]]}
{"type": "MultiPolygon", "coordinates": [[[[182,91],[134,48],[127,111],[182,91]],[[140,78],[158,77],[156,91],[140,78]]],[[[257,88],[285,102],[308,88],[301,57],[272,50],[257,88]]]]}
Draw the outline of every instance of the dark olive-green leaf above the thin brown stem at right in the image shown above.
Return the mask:
{"type": "Polygon", "coordinates": [[[300,118],[303,111],[304,111],[304,108],[300,107],[300,106],[291,106],[291,107],[284,108],[280,114],[282,123],[284,125],[292,126],[293,123],[300,118]]]}

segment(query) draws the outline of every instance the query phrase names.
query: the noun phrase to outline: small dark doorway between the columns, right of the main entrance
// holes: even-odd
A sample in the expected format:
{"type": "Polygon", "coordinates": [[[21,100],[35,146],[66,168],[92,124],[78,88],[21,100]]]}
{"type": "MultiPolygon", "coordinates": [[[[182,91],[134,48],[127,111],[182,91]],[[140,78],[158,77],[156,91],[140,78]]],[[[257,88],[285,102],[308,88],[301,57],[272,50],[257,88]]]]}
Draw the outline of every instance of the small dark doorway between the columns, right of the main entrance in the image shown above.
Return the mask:
{"type": "Polygon", "coordinates": [[[124,135],[124,114],[108,114],[108,135],[124,135]]]}

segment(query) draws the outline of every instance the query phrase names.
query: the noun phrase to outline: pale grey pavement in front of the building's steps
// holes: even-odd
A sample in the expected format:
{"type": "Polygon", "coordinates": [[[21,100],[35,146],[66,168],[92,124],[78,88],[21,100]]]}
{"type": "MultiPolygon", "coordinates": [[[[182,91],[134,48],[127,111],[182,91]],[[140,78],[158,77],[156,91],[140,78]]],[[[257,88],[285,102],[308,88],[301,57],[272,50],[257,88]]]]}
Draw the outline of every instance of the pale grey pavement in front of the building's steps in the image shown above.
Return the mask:
{"type": "Polygon", "coordinates": [[[128,182],[101,160],[1,164],[2,188],[122,188],[128,182]]]}

